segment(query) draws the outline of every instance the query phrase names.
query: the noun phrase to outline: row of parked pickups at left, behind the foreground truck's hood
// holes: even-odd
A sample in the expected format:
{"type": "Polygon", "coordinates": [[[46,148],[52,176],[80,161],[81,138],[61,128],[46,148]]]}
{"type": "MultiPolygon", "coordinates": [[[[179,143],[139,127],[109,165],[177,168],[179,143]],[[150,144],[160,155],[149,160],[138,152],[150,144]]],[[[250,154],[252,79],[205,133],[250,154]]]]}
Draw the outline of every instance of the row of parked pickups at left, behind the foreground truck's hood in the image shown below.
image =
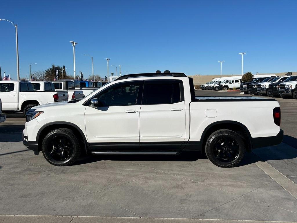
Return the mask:
{"type": "Polygon", "coordinates": [[[34,106],[59,101],[78,100],[91,94],[102,83],[78,80],[0,81],[3,111],[26,112],[34,106]],[[94,87],[96,85],[96,87],[94,87]]]}

